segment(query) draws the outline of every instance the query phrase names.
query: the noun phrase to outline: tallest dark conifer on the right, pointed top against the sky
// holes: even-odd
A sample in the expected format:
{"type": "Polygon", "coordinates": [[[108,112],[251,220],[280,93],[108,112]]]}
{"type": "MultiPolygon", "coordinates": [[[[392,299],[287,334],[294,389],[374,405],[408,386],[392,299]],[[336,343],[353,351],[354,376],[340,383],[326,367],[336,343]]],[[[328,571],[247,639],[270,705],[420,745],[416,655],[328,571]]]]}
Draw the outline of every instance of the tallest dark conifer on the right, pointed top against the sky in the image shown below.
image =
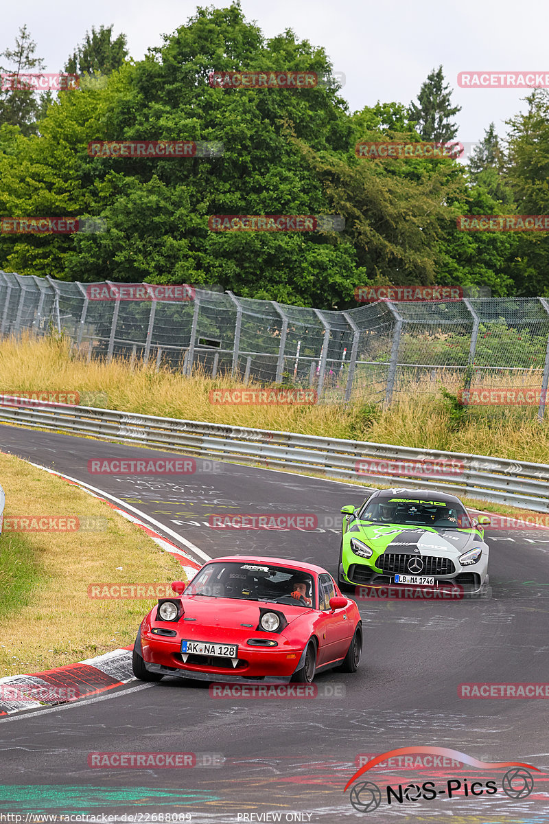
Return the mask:
{"type": "Polygon", "coordinates": [[[450,119],[461,111],[461,106],[450,105],[452,90],[447,83],[444,86],[442,66],[432,70],[427,75],[426,82],[421,84],[421,91],[417,96],[419,105],[413,101],[408,109],[408,116],[423,140],[448,142],[454,140],[458,127],[450,123],[450,119]]]}

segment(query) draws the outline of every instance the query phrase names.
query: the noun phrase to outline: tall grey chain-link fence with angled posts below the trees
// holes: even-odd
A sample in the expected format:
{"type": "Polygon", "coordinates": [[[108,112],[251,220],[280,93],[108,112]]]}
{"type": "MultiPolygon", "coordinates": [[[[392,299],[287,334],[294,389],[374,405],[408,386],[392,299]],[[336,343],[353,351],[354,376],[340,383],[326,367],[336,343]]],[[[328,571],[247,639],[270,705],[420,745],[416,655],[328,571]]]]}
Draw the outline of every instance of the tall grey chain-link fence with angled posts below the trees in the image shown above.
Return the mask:
{"type": "Polygon", "coordinates": [[[115,297],[123,287],[0,272],[0,334],[55,330],[88,361],[154,360],[157,368],[165,363],[187,376],[201,367],[212,377],[313,387],[324,402],[359,397],[389,405],[442,380],[481,405],[494,402],[486,391],[505,388],[505,405],[522,388],[543,417],[549,380],[543,297],[379,301],[324,311],[211,288],[187,288],[182,299],[158,297],[157,287],[146,299],[115,297]]]}

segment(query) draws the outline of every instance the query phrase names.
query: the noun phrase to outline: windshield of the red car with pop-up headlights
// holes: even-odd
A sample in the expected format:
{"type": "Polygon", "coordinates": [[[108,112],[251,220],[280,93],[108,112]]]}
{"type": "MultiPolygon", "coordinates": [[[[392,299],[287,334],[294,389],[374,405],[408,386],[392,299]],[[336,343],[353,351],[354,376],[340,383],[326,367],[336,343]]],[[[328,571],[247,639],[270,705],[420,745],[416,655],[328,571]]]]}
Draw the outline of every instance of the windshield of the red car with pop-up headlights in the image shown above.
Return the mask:
{"type": "Polygon", "coordinates": [[[310,607],[314,606],[314,578],[276,564],[214,561],[198,572],[183,594],[310,607]]]}

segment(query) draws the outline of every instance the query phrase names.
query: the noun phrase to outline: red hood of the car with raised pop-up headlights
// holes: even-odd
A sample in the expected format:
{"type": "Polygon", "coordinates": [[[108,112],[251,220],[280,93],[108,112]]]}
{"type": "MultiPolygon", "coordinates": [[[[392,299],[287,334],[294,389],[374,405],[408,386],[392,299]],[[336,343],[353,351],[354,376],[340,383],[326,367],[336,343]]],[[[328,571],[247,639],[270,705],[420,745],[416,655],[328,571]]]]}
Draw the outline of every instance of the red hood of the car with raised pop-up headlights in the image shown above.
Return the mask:
{"type": "Polygon", "coordinates": [[[267,601],[246,601],[239,598],[214,598],[203,595],[189,595],[181,598],[185,616],[182,624],[194,626],[220,627],[224,630],[242,630],[243,624],[255,627],[259,623],[260,610],[281,612],[288,622],[309,614],[305,606],[272,604],[267,601]],[[194,620],[191,620],[194,619],[194,620]]]}

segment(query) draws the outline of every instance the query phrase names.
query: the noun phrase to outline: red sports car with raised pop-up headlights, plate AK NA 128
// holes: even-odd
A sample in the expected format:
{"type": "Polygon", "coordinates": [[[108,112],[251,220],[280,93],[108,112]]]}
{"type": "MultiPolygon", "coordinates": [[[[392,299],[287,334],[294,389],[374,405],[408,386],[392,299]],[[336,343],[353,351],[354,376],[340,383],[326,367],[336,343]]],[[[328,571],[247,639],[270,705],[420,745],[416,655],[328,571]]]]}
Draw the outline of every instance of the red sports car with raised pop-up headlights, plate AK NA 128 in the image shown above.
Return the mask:
{"type": "Polygon", "coordinates": [[[310,683],[316,672],[356,672],[362,625],[322,567],[230,555],[205,564],[143,620],[133,674],[202,681],[310,683]]]}

